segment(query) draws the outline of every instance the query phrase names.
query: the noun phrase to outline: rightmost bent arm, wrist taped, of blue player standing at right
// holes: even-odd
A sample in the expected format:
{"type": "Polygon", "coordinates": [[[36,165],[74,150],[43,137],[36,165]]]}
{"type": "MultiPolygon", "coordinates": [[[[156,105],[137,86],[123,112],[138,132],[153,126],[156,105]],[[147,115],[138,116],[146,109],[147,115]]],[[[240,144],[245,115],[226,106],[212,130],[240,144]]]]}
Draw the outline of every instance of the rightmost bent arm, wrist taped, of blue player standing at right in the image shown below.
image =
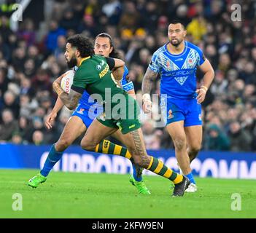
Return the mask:
{"type": "Polygon", "coordinates": [[[211,63],[207,59],[201,66],[199,66],[199,68],[204,74],[203,85],[198,90],[196,90],[196,92],[198,93],[198,103],[202,103],[206,97],[206,92],[212,84],[212,80],[214,79],[214,69],[212,68],[211,63]]]}

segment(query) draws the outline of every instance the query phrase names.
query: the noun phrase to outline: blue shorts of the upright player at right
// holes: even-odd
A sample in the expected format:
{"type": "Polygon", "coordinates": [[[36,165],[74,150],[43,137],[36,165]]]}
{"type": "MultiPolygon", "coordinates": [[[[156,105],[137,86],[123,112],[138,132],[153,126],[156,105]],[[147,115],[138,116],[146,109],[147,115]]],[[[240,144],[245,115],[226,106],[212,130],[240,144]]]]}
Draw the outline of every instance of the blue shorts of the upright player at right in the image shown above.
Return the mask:
{"type": "Polygon", "coordinates": [[[184,121],[184,127],[202,125],[201,104],[197,103],[196,98],[165,98],[161,100],[161,108],[166,116],[166,125],[179,121],[184,121]]]}

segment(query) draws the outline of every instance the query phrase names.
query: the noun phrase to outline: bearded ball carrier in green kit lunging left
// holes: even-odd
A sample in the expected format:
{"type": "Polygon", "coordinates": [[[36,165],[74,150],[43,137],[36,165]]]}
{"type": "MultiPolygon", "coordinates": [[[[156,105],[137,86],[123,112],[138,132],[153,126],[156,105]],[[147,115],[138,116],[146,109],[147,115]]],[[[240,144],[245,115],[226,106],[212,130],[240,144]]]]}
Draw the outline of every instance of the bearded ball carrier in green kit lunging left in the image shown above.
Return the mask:
{"type": "Polygon", "coordinates": [[[147,155],[139,122],[139,105],[117,85],[109,70],[109,66],[115,66],[116,60],[94,55],[93,44],[81,35],[71,36],[67,40],[65,56],[69,65],[78,66],[78,69],[69,94],[61,89],[61,78],[53,83],[63,103],[69,109],[74,109],[86,90],[104,105],[103,114],[93,120],[82,138],[82,149],[95,151],[98,143],[120,129],[128,135],[125,145],[134,163],[174,182],[173,196],[183,196],[190,181],[166,167],[159,159],[147,155]]]}

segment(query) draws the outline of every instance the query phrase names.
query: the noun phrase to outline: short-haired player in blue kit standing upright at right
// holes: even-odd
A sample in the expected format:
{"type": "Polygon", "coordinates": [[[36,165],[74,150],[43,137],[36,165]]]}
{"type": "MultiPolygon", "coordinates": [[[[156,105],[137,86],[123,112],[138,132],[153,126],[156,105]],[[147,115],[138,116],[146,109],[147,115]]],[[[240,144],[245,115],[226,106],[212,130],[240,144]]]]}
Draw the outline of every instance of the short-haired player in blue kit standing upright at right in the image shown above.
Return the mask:
{"type": "Polygon", "coordinates": [[[151,111],[152,82],[160,76],[161,106],[166,109],[166,128],[171,136],[182,173],[190,179],[186,191],[195,192],[197,186],[190,163],[195,159],[202,142],[201,103],[214,79],[209,60],[195,44],[185,41],[185,26],[178,21],[168,25],[169,42],[153,55],[142,82],[143,108],[151,111]],[[203,83],[197,88],[196,70],[203,72],[203,83]]]}

